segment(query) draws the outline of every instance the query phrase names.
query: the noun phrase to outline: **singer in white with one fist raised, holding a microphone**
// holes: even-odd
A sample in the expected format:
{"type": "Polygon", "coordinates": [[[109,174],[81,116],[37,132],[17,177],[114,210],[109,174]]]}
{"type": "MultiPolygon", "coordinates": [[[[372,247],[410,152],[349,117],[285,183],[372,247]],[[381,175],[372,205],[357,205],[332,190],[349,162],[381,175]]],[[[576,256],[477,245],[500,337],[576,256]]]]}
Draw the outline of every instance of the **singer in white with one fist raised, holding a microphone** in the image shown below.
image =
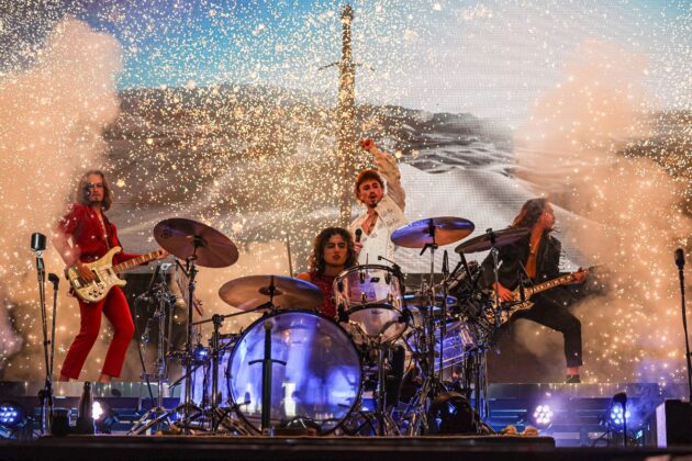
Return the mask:
{"type": "Polygon", "coordinates": [[[394,259],[390,235],[408,223],[406,195],[397,160],[378,149],[372,139],[361,140],[360,147],[373,155],[377,168],[362,170],[356,178],[354,194],[366,211],[354,220],[349,231],[355,236],[358,265],[384,263],[378,261],[378,256],[394,259]]]}

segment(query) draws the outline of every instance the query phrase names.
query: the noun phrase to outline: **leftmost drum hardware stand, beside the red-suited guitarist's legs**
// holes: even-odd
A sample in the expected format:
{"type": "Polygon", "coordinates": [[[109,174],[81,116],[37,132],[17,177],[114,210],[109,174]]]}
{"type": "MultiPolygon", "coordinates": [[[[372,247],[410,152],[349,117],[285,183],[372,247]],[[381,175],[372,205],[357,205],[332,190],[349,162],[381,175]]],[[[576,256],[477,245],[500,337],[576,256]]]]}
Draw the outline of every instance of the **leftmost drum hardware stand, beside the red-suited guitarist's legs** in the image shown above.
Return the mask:
{"type": "MultiPolygon", "coordinates": [[[[170,296],[165,289],[165,280],[166,280],[166,271],[170,268],[170,265],[160,265],[157,268],[157,272],[160,270],[160,277],[164,280],[158,285],[158,290],[155,292],[155,296],[158,300],[158,305],[156,307],[156,312],[154,313],[154,317],[158,318],[158,357],[156,358],[155,367],[156,373],[148,374],[146,372],[142,373],[142,379],[147,380],[149,378],[154,378],[157,380],[157,395],[156,395],[156,406],[149,408],[147,412],[142,415],[139,419],[132,426],[132,429],[127,432],[129,436],[138,436],[142,434],[146,434],[150,428],[156,427],[156,431],[159,432],[161,427],[165,425],[166,427],[171,426],[170,420],[170,412],[164,407],[164,384],[168,381],[168,368],[166,367],[166,357],[168,356],[168,344],[169,338],[166,337],[166,321],[168,319],[168,334],[170,334],[170,322],[172,321],[170,315],[166,315],[166,307],[170,310],[171,302],[170,296]],[[159,269],[160,268],[160,269],[159,269]]],[[[156,277],[156,276],[155,276],[156,277]]],[[[152,281],[154,283],[154,280],[152,281]]],[[[154,285],[150,286],[152,289],[154,285]]],[[[150,290],[149,290],[150,291],[150,290]]]]}

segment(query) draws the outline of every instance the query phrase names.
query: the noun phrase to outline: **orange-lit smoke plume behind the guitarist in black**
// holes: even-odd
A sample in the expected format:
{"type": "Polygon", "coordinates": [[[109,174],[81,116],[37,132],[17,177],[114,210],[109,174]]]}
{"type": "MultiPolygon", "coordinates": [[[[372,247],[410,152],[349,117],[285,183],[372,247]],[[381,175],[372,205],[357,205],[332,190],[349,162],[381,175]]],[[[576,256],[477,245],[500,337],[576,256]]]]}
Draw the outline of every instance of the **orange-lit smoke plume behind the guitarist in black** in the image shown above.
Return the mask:
{"type": "Polygon", "coordinates": [[[517,176],[583,218],[558,237],[610,272],[606,295],[577,308],[590,381],[683,375],[672,263],[692,228],[683,192],[654,161],[620,154],[651,133],[657,104],[643,90],[647,65],[640,54],[583,43],[517,136],[517,176]]]}

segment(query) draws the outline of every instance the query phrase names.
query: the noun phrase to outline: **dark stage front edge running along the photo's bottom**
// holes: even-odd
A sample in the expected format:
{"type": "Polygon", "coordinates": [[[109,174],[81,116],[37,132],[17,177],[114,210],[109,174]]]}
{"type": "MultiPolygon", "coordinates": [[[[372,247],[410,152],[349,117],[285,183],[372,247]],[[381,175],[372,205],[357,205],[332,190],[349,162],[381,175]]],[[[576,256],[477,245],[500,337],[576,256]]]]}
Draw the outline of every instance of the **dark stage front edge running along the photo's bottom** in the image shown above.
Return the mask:
{"type": "MultiPolygon", "coordinates": [[[[69,436],[0,441],[12,460],[646,460],[691,457],[692,448],[555,448],[548,437],[268,438],[69,436]]],[[[689,458],[688,458],[689,459],[689,458]]]]}

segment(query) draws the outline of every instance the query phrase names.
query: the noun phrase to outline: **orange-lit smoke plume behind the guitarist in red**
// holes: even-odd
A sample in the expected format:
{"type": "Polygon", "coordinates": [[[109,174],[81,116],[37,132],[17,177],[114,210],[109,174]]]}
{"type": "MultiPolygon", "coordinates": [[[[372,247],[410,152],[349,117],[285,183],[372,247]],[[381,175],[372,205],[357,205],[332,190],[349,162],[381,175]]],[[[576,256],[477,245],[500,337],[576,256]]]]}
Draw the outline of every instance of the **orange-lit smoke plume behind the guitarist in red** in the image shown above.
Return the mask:
{"type": "MultiPolygon", "coordinates": [[[[51,238],[77,177],[101,166],[101,132],[119,113],[115,77],[121,68],[121,47],[113,37],[66,16],[48,34],[31,69],[10,72],[0,81],[0,368],[7,366],[5,379],[43,374],[30,236],[41,232],[51,238]],[[9,361],[22,338],[21,360],[9,361]]],[[[44,257],[47,272],[62,273],[64,263],[51,244],[44,257]]],[[[58,368],[79,329],[77,303],[65,296],[62,285],[58,368]]],[[[51,295],[47,301],[49,307],[51,295]]]]}

